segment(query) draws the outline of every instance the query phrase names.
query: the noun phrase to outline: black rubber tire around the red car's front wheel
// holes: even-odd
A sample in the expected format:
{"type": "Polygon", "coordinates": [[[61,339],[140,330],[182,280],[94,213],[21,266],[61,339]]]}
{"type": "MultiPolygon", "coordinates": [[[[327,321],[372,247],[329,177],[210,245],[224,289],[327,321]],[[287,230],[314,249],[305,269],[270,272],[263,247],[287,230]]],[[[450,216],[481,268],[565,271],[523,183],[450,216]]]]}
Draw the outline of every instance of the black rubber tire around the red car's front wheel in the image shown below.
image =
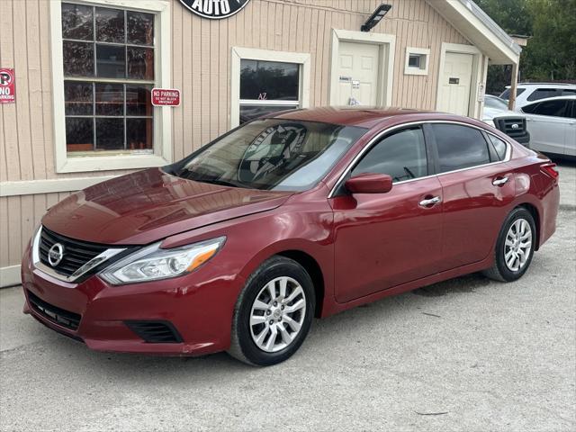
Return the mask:
{"type": "MultiPolygon", "coordinates": [[[[232,319],[231,344],[228,354],[247,365],[269,366],[284,362],[292,356],[308,335],[314,316],[314,286],[310,275],[293,259],[275,256],[267,259],[250,275],[234,309],[232,319]],[[277,352],[266,352],[257,346],[252,338],[250,315],[252,306],[261,290],[278,277],[289,277],[301,285],[305,294],[305,307],[302,327],[287,347],[277,352]]],[[[267,313],[267,312],[266,312],[267,313]]]]}

